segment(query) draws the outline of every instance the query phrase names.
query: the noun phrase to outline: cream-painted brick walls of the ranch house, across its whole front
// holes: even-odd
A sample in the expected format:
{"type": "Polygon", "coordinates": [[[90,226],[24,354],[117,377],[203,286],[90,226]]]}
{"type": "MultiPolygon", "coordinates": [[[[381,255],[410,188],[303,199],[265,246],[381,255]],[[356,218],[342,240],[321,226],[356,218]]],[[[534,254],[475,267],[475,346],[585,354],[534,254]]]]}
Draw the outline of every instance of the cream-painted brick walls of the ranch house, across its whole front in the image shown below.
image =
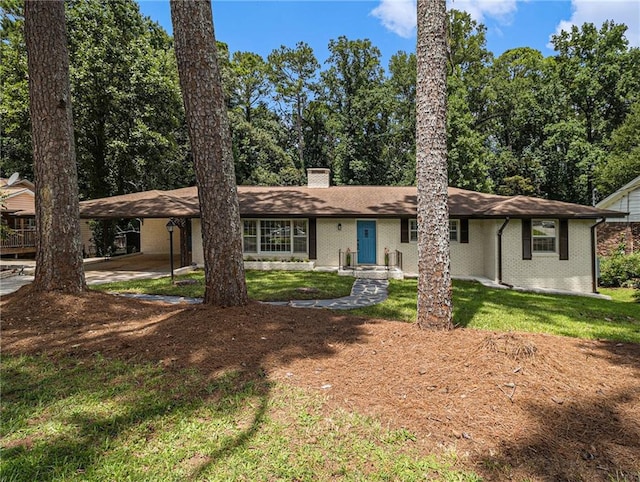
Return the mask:
{"type": "MultiPolygon", "coordinates": [[[[167,219],[146,219],[141,228],[142,251],[168,253],[169,238],[165,228],[167,219]]],[[[497,232],[504,220],[470,220],[469,243],[451,243],[451,273],[453,276],[482,276],[497,281],[497,232]]],[[[592,221],[569,221],[569,260],[560,261],[557,254],[536,255],[522,259],[522,225],[511,220],[504,230],[503,282],[522,287],[550,288],[578,292],[591,291],[591,232],[592,221]]],[[[316,266],[335,267],[338,251],[357,249],[356,219],[317,220],[316,266]],[[338,224],[342,229],[338,230],[338,224]]],[[[406,275],[417,274],[416,243],[400,243],[400,220],[376,220],[377,264],[384,263],[384,248],[403,254],[406,275]]],[[[174,233],[174,249],[179,250],[179,234],[174,233]]],[[[200,220],[192,221],[193,262],[202,264],[202,234],[200,220]]]]}

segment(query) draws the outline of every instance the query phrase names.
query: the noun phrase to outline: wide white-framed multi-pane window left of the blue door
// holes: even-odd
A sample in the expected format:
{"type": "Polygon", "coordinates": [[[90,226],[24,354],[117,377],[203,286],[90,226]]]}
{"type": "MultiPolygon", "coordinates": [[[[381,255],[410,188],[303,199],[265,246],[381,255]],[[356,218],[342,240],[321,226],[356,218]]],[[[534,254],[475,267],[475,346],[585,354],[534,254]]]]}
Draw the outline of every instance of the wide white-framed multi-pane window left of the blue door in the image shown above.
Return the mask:
{"type": "Polygon", "coordinates": [[[290,254],[307,252],[307,220],[243,221],[245,253],[290,254]]]}

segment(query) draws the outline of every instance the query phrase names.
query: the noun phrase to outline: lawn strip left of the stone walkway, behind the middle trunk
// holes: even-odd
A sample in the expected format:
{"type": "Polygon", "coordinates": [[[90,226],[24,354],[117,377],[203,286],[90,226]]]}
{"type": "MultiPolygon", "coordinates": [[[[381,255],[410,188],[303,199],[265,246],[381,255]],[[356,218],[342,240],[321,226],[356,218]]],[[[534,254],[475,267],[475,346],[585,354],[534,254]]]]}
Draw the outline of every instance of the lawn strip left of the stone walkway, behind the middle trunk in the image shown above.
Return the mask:
{"type": "MultiPolygon", "coordinates": [[[[120,293],[145,293],[175,295],[189,298],[204,296],[204,272],[194,271],[176,276],[176,281],[192,279],[197,284],[174,286],[171,278],[143,279],[93,285],[100,291],[120,293]]],[[[249,297],[259,301],[288,301],[306,299],[331,299],[348,296],[353,278],[335,273],[310,271],[255,271],[246,272],[249,297]]]]}

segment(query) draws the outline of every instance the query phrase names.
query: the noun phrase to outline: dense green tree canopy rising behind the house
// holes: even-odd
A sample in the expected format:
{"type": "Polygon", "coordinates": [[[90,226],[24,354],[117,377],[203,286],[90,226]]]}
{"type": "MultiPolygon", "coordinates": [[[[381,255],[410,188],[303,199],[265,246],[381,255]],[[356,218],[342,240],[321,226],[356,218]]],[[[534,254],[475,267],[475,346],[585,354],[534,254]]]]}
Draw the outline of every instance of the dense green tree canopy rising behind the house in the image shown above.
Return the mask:
{"type": "MultiPolygon", "coordinates": [[[[29,178],[22,1],[0,6],[0,171],[29,178]]],[[[450,185],[591,203],[640,174],[640,49],[625,25],[572,27],[548,57],[495,56],[482,23],[447,14],[450,185]]],[[[81,199],[193,185],[173,39],[134,0],[70,0],[66,16],[81,199]]],[[[415,184],[415,53],[382,65],[367,39],[328,47],[321,64],[304,42],[266,58],[218,42],[237,183],[329,167],[335,184],[415,184]]]]}

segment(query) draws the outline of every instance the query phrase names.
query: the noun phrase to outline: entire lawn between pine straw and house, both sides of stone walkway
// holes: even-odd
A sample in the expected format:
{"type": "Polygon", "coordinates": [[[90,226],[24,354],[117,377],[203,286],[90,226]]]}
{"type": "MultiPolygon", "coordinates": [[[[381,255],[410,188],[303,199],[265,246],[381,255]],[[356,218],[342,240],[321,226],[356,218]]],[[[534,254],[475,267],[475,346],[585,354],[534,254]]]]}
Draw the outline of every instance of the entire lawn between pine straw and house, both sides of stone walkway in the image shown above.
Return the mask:
{"type": "MultiPolygon", "coordinates": [[[[172,286],[169,278],[109,283],[94,288],[109,291],[202,296],[202,273],[181,278],[199,280],[195,286],[172,286]]],[[[353,278],[335,273],[248,271],[249,296],[261,301],[328,299],[346,296],[353,278]],[[311,287],[318,292],[297,289],[311,287]]],[[[454,323],[497,331],[550,333],[586,339],[640,343],[640,304],[632,289],[602,289],[613,299],[544,295],[494,289],[480,283],[454,281],[454,323]]],[[[390,280],[389,298],[379,305],[351,313],[388,320],[415,321],[417,281],[390,280]]]]}

